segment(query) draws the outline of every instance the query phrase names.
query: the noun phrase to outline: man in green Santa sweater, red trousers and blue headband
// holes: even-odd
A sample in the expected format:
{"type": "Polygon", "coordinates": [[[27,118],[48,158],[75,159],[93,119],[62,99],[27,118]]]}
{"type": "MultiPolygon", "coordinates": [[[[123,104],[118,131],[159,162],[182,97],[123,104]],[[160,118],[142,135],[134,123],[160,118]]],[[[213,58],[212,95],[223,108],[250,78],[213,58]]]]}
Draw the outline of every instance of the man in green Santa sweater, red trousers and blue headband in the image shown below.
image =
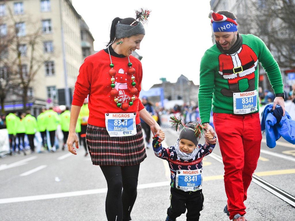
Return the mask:
{"type": "Polygon", "coordinates": [[[257,166],[262,139],[258,62],[267,72],[276,94],[273,108],[278,104],[285,114],[283,81],[277,62],[260,38],[239,34],[237,18],[230,11],[210,13],[216,44],[201,60],[200,118],[214,134],[209,125],[212,108],[225,170],[227,205],[224,212],[230,220],[246,221],[244,201],[257,166]]]}

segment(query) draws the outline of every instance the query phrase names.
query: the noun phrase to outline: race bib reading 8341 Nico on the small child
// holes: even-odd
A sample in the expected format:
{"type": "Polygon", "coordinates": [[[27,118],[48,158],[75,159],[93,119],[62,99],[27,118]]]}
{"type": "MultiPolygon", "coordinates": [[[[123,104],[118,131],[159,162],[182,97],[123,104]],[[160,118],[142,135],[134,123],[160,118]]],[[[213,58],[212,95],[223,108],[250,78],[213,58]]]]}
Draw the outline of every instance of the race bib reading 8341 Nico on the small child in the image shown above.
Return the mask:
{"type": "Polygon", "coordinates": [[[202,189],[202,169],[197,170],[177,170],[176,188],[182,191],[197,191],[202,189]]]}

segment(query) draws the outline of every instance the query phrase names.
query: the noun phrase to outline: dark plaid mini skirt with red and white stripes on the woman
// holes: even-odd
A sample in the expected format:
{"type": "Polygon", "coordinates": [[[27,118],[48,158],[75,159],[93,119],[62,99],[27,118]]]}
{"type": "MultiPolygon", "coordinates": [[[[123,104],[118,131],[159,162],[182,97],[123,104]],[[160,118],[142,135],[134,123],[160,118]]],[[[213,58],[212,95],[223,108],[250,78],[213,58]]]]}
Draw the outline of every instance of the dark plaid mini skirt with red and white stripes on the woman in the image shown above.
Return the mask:
{"type": "Polygon", "coordinates": [[[110,137],[104,127],[88,124],[86,144],[93,165],[131,166],[140,164],[146,157],[141,125],[132,136],[110,137]]]}

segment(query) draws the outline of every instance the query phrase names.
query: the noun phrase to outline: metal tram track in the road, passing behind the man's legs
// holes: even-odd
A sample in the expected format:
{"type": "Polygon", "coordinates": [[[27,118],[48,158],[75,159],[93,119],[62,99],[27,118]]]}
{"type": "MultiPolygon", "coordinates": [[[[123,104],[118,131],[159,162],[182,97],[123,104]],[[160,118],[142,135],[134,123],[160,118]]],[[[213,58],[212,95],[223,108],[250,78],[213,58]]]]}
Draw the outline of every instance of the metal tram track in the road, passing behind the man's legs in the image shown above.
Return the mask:
{"type": "MultiPolygon", "coordinates": [[[[222,157],[211,153],[208,156],[212,157],[213,159],[219,161],[220,163],[223,164],[222,157]]],[[[273,186],[272,184],[266,182],[265,180],[261,179],[260,177],[256,176],[253,174],[252,176],[252,182],[255,184],[259,185],[263,189],[266,189],[267,191],[271,192],[275,196],[279,197],[283,201],[289,203],[293,207],[295,207],[295,198],[291,196],[289,193],[284,192],[283,190],[279,189],[278,187],[273,186]]]]}

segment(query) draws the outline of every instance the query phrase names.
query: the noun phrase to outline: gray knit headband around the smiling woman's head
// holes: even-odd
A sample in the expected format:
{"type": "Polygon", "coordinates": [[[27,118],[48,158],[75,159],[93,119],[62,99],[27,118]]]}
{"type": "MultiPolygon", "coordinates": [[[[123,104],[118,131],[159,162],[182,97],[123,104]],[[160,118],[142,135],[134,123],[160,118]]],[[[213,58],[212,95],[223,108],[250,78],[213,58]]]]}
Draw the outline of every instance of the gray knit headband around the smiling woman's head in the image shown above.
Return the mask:
{"type": "Polygon", "coordinates": [[[120,23],[116,25],[116,38],[129,37],[135,34],[145,34],[145,29],[141,22],[135,26],[120,23]]]}

